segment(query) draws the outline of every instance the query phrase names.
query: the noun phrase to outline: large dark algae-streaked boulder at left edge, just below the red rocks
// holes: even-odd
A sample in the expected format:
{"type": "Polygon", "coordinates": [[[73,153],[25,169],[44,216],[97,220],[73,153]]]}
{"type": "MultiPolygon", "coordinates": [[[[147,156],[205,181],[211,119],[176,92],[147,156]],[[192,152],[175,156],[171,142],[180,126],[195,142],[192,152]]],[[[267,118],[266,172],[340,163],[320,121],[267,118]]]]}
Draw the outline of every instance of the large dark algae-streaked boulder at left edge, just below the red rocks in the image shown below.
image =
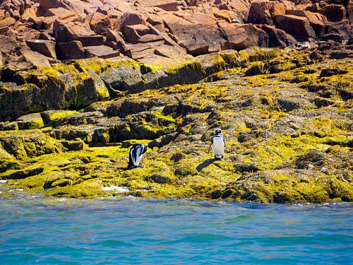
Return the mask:
{"type": "Polygon", "coordinates": [[[16,119],[30,112],[82,108],[109,97],[107,87],[97,76],[89,73],[50,73],[47,68],[29,73],[17,72],[18,82],[25,78],[32,82],[23,86],[0,86],[0,121],[16,119]]]}

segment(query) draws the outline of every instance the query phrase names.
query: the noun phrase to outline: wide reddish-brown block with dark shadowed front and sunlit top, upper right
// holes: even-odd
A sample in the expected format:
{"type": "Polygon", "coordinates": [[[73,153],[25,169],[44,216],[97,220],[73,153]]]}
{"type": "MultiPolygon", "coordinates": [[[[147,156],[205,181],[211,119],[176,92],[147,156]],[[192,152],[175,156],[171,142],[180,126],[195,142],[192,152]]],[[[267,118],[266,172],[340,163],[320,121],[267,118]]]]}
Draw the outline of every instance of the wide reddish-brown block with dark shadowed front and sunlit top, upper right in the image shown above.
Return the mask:
{"type": "Polygon", "coordinates": [[[275,21],[278,28],[294,35],[294,37],[299,40],[309,40],[311,37],[316,37],[315,31],[307,18],[292,15],[278,15],[275,16],[275,21]]]}

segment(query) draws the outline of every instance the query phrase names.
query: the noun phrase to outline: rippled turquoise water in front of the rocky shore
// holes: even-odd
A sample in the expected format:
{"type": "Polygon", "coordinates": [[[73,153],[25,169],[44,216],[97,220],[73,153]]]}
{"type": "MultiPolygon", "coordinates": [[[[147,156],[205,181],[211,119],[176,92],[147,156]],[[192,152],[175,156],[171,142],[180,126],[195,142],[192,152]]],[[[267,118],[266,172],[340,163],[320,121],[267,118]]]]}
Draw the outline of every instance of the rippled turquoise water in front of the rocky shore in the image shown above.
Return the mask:
{"type": "Polygon", "coordinates": [[[352,208],[0,199],[0,264],[352,264],[352,208]]]}

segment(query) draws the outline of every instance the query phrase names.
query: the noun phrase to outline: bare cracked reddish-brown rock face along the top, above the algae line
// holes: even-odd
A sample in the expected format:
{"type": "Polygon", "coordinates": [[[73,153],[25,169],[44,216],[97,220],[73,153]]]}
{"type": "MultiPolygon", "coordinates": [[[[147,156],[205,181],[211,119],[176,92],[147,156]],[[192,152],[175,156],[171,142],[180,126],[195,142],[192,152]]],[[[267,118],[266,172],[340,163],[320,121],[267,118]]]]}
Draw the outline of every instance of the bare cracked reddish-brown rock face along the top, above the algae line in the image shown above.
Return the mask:
{"type": "Polygon", "coordinates": [[[1,1],[0,51],[4,66],[30,69],[58,59],[130,57],[170,64],[186,54],[196,57],[225,49],[315,40],[351,43],[351,4],[296,3],[1,1]]]}

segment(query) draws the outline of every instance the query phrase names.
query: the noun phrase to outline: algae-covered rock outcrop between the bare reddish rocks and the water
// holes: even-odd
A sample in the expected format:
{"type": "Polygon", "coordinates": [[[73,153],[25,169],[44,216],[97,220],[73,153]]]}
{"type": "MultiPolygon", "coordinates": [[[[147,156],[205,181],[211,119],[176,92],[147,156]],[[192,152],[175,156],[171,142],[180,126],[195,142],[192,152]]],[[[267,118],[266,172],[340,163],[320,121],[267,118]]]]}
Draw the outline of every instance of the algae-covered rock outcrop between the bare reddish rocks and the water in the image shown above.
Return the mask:
{"type": "Polygon", "coordinates": [[[330,59],[328,49],[203,54],[169,69],[76,60],[44,79],[17,73],[0,90],[2,117],[37,113],[0,123],[1,196],[352,201],[352,59],[330,59]],[[96,101],[107,91],[117,98],[96,101]],[[207,153],[217,127],[222,161],[207,153]],[[145,167],[126,170],[136,141],[148,145],[145,167]],[[112,185],[126,192],[102,189],[112,185]]]}

